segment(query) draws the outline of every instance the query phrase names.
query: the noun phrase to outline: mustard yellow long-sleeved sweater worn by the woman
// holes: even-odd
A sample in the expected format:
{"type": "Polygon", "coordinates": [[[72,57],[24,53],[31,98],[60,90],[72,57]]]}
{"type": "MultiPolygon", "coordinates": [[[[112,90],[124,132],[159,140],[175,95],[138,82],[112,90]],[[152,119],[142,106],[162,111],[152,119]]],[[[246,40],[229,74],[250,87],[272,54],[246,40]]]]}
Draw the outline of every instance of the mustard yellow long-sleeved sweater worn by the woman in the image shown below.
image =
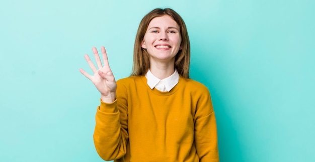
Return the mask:
{"type": "Polygon", "coordinates": [[[208,89],[180,77],[170,92],[145,76],[117,81],[117,99],[97,108],[94,143],[104,160],[219,161],[208,89]]]}

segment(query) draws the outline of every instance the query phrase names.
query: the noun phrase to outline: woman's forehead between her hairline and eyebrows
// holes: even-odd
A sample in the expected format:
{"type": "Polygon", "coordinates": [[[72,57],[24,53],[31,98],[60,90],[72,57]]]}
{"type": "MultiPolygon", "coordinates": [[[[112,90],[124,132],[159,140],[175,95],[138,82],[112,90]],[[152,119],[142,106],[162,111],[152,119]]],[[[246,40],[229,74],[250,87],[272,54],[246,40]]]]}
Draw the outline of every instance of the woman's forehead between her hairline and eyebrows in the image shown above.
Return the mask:
{"type": "Polygon", "coordinates": [[[148,28],[150,27],[176,27],[179,29],[179,25],[175,22],[175,20],[173,20],[172,17],[168,15],[153,18],[150,21],[148,28]]]}

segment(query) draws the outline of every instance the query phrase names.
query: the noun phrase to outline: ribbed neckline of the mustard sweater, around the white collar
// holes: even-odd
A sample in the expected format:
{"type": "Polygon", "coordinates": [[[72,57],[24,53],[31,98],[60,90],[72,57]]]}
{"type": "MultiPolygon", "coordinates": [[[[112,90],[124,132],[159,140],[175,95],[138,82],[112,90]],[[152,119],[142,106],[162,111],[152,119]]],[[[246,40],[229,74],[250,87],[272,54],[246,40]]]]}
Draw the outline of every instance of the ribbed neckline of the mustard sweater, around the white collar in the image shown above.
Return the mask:
{"type": "Polygon", "coordinates": [[[169,96],[174,94],[178,89],[180,89],[181,87],[184,86],[184,78],[180,75],[179,76],[179,81],[177,83],[177,85],[175,85],[175,87],[173,87],[169,92],[162,92],[157,90],[156,88],[151,89],[148,85],[147,85],[147,79],[144,75],[140,76],[140,79],[142,80],[142,83],[145,85],[145,87],[147,88],[147,91],[154,93],[156,95],[160,95],[160,96],[169,96]]]}

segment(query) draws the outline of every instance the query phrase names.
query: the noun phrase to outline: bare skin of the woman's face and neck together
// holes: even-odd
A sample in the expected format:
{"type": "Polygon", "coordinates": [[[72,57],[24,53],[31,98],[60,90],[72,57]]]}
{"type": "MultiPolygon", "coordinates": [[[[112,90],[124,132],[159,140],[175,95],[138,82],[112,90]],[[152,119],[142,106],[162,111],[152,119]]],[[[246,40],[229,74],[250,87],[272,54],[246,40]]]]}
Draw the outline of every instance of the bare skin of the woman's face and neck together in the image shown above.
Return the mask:
{"type": "Polygon", "coordinates": [[[179,30],[179,25],[168,15],[154,18],[148,25],[141,47],[147,50],[150,71],[157,78],[167,78],[175,71],[175,56],[182,49],[179,30]]]}

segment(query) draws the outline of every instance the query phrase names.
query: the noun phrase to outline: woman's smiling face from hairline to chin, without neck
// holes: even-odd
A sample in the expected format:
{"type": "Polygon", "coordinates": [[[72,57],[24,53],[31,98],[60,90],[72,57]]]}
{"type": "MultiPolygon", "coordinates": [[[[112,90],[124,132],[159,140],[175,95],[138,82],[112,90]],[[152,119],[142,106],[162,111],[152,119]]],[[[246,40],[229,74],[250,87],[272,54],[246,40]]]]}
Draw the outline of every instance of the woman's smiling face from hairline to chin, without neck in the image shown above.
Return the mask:
{"type": "Polygon", "coordinates": [[[150,62],[175,62],[181,47],[179,25],[168,15],[151,20],[141,42],[141,47],[149,54],[150,62]]]}

